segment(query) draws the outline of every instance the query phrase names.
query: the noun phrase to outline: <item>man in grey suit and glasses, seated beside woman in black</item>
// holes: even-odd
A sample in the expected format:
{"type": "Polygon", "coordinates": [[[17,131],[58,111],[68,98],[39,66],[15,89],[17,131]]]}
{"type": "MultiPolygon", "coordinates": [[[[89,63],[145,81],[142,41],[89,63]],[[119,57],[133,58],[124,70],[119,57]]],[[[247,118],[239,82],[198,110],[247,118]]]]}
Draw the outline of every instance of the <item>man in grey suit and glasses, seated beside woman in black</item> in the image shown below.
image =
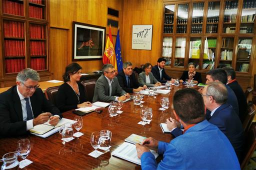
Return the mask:
{"type": "Polygon", "coordinates": [[[124,101],[130,97],[129,93],[120,87],[112,64],[104,64],[102,71],[102,75],[96,81],[92,102],[124,101]]]}

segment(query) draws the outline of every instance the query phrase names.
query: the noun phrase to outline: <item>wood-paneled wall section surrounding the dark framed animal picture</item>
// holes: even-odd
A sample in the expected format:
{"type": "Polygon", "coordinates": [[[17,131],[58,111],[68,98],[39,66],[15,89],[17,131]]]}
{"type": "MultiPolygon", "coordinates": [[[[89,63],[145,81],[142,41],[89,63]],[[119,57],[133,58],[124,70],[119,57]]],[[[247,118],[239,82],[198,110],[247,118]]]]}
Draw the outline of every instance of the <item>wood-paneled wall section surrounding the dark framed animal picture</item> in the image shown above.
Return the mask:
{"type": "MultiPolygon", "coordinates": [[[[107,27],[107,7],[119,10],[122,20],[122,0],[49,0],[50,71],[53,79],[62,80],[65,66],[72,62],[72,21],[107,27]]],[[[118,19],[118,18],[117,18],[118,19]]],[[[116,19],[116,20],[117,20],[116,19]]],[[[119,22],[121,31],[121,22],[119,22]]],[[[111,27],[116,35],[117,28],[111,27]]],[[[106,29],[108,34],[108,28],[106,29]]],[[[115,40],[115,37],[113,37],[115,40]]],[[[102,67],[102,59],[78,61],[83,72],[102,67]]]]}

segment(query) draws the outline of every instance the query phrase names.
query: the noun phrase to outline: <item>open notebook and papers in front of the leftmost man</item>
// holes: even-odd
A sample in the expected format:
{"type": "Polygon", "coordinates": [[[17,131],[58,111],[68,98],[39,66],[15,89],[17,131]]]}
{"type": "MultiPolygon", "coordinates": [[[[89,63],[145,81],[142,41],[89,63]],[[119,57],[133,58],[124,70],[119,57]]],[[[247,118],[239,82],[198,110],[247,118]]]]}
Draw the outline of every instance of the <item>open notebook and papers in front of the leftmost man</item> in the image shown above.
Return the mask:
{"type": "Polygon", "coordinates": [[[48,137],[51,134],[57,132],[58,129],[60,128],[60,126],[63,125],[64,123],[67,123],[67,122],[68,123],[74,123],[75,121],[71,120],[71,119],[68,119],[68,118],[61,118],[55,126],[50,125],[47,121],[44,124],[35,125],[29,131],[30,131],[31,134],[34,134],[34,135],[37,135],[39,137],[45,138],[45,137],[48,137]]]}

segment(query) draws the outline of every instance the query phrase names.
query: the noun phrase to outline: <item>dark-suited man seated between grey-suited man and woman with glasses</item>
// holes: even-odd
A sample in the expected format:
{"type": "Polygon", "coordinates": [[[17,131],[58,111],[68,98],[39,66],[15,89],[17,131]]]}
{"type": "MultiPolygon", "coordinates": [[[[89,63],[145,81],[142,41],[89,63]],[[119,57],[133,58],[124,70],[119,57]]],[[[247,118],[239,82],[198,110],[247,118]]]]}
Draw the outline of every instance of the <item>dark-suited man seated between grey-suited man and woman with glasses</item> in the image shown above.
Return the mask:
{"type": "Polygon", "coordinates": [[[118,72],[117,78],[120,86],[126,92],[137,92],[147,88],[146,85],[140,86],[138,83],[135,74],[132,72],[131,62],[124,62],[122,64],[122,70],[118,72]]]}

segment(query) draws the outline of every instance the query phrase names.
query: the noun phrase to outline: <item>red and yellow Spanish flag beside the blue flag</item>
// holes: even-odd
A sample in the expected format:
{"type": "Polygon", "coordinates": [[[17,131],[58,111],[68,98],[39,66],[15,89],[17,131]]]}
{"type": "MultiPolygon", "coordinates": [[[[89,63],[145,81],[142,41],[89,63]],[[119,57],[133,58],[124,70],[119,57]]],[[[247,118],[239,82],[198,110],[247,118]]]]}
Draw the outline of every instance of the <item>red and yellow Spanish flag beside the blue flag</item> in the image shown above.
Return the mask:
{"type": "Polygon", "coordinates": [[[114,45],[113,45],[113,39],[111,35],[111,25],[109,25],[109,33],[106,40],[106,46],[105,51],[103,55],[103,63],[110,63],[114,66],[114,69],[117,70],[117,64],[116,64],[116,58],[114,53],[114,45]]]}

